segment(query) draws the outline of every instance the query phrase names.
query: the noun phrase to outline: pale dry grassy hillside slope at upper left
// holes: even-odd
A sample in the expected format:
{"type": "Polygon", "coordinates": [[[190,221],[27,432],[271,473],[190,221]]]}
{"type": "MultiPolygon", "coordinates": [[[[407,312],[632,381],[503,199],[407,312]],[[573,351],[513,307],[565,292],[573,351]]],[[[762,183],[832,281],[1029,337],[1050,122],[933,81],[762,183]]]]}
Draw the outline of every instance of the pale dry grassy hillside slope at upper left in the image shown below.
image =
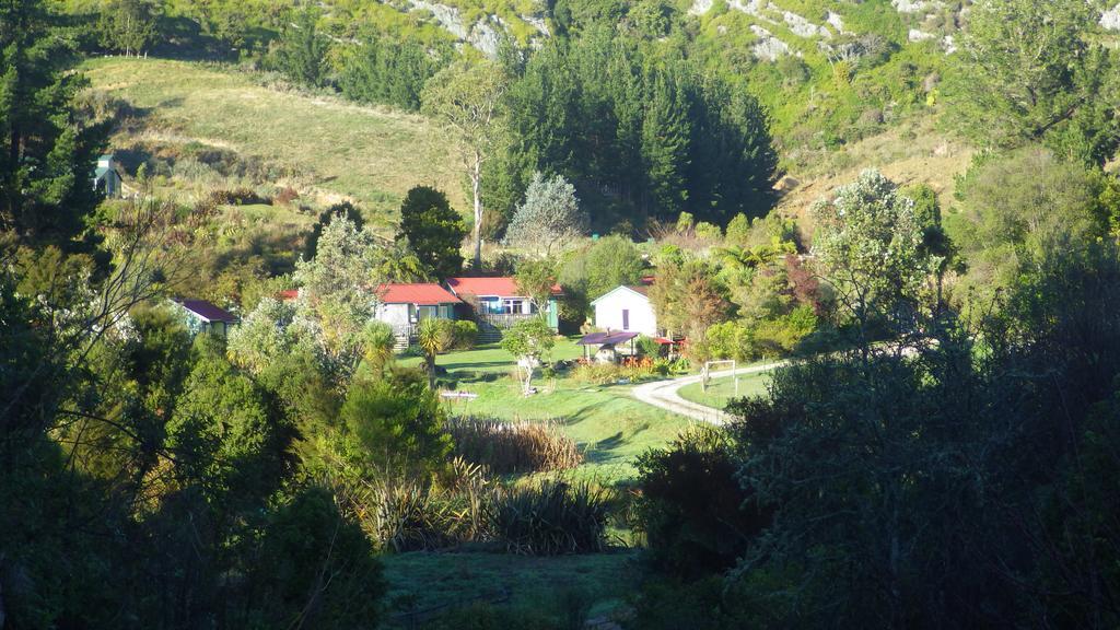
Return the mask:
{"type": "Polygon", "coordinates": [[[138,124],[114,136],[114,150],[233,151],[279,167],[323,201],[356,198],[374,224],[417,184],[435,184],[466,209],[454,147],[419,115],[284,92],[190,62],[94,58],[83,71],[94,91],[138,112],[138,124]]]}

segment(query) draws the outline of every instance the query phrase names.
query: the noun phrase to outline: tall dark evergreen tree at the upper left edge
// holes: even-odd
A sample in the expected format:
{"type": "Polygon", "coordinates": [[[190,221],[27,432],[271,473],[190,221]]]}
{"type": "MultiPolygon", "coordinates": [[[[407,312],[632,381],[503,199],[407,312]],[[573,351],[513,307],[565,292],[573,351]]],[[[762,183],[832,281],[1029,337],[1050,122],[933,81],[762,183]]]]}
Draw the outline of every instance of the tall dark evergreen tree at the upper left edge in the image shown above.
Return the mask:
{"type": "Polygon", "coordinates": [[[41,0],[0,2],[0,230],[71,251],[93,245],[74,240],[101,201],[91,180],[104,141],[74,108],[76,61],[41,0]]]}

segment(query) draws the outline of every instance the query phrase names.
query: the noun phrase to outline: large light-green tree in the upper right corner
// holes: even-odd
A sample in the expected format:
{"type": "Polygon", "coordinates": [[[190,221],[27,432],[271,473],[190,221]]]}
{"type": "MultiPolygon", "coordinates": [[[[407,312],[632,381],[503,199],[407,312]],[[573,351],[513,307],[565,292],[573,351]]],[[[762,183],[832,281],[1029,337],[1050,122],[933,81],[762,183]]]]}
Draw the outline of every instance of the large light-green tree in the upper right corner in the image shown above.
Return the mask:
{"type": "Polygon", "coordinates": [[[1117,84],[1099,16],[1075,0],[978,3],[956,70],[956,122],[982,146],[1045,141],[1063,157],[1103,164],[1117,148],[1117,84]]]}

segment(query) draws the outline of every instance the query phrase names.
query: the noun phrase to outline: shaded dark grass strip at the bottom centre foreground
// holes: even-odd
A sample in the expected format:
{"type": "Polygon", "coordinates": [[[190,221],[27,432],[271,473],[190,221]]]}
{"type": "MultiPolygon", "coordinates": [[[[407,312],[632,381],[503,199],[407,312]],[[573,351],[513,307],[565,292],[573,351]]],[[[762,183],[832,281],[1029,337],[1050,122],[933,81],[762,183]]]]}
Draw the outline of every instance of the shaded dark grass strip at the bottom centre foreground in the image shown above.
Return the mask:
{"type": "MultiPolygon", "coordinates": [[[[383,556],[390,592],[390,628],[409,627],[409,611],[473,602],[532,608],[561,619],[564,602],[591,604],[591,615],[616,608],[635,586],[635,550],[558,557],[488,553],[427,553],[383,556]]],[[[445,609],[440,609],[445,610],[445,609]]]]}

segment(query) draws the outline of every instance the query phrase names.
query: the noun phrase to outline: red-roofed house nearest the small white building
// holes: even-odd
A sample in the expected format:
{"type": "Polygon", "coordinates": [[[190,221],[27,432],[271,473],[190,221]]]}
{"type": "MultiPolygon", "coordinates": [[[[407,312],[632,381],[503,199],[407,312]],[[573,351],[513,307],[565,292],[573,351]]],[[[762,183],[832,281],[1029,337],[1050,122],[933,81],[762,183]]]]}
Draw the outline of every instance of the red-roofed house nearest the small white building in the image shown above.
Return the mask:
{"type": "Polygon", "coordinates": [[[498,331],[508,328],[521,319],[543,315],[552,330],[560,324],[560,286],[552,287],[544,312],[538,312],[529,296],[517,288],[511,276],[496,278],[448,278],[447,287],[475,309],[479,331],[491,326],[498,331]]]}

